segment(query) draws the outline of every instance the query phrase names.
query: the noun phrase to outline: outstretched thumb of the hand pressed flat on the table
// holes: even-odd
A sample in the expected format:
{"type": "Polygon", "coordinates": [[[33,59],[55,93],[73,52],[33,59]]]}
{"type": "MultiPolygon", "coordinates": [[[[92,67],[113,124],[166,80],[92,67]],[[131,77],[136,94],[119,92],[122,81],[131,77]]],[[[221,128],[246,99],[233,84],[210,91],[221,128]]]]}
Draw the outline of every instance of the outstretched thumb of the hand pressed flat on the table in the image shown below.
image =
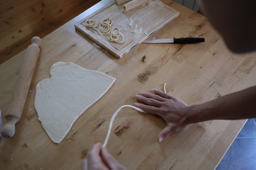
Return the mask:
{"type": "Polygon", "coordinates": [[[159,137],[158,137],[159,142],[162,142],[166,137],[168,137],[174,132],[177,132],[178,130],[181,130],[182,128],[184,128],[183,123],[178,123],[176,125],[174,125],[173,123],[168,123],[166,125],[166,128],[164,128],[163,130],[161,130],[161,132],[159,132],[159,137]]]}

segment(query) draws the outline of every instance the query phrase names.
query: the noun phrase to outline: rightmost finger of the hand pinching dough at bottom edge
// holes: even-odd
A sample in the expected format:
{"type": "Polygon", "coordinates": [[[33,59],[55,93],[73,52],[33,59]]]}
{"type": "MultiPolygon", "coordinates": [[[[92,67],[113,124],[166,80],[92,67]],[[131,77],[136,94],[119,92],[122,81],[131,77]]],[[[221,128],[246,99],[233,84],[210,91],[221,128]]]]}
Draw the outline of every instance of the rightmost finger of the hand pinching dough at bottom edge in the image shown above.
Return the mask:
{"type": "Polygon", "coordinates": [[[102,161],[109,169],[125,169],[122,164],[119,164],[119,162],[117,162],[117,160],[114,159],[114,157],[112,157],[112,155],[109,152],[107,152],[107,149],[105,147],[102,147],[101,156],[102,161]]]}

